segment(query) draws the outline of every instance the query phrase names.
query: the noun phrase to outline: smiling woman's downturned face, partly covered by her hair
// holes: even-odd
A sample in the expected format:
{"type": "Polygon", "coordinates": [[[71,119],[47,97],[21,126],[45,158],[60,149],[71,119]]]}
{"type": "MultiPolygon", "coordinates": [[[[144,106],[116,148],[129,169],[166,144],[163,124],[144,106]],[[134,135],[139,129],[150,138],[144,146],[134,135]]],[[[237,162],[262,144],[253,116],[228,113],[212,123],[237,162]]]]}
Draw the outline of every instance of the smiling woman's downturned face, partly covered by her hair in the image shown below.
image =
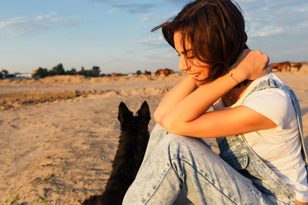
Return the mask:
{"type": "Polygon", "coordinates": [[[177,53],[180,55],[180,61],[179,61],[179,70],[186,71],[187,74],[189,74],[192,77],[192,80],[195,81],[198,85],[199,81],[203,81],[207,78],[207,71],[208,71],[208,64],[205,64],[198,59],[194,58],[192,56],[192,45],[188,43],[188,41],[185,41],[185,48],[188,51],[187,57],[190,59],[185,58],[184,49],[182,46],[182,35],[179,31],[175,32],[174,35],[174,42],[175,42],[175,49],[177,50],[177,53]]]}

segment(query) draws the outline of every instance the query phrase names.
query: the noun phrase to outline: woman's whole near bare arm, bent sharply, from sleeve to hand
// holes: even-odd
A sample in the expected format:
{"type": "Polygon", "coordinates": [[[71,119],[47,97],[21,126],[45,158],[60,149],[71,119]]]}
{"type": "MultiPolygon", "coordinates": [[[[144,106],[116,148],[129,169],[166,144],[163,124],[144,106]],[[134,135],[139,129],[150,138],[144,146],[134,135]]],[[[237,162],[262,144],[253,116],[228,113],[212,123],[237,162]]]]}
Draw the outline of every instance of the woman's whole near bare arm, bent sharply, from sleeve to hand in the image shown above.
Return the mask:
{"type": "MultiPolygon", "coordinates": [[[[244,51],[231,72],[238,82],[257,79],[270,71],[271,65],[266,66],[268,61],[267,55],[259,51],[244,51]]],[[[192,137],[223,137],[277,126],[264,115],[244,106],[205,113],[235,85],[236,81],[226,74],[199,87],[170,110],[162,119],[162,126],[170,133],[192,137]]]]}

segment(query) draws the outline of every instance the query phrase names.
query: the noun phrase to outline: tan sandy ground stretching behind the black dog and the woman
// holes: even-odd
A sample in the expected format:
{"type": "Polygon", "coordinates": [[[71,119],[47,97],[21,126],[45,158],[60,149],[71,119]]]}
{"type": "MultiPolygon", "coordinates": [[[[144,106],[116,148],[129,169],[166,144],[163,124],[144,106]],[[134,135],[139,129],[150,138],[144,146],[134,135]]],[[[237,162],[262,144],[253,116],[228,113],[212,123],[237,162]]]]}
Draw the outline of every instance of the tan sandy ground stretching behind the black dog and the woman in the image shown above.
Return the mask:
{"type": "MultiPolygon", "coordinates": [[[[275,72],[300,101],[308,145],[308,67],[275,72]]],[[[153,113],[184,74],[168,77],[55,76],[0,81],[0,204],[81,204],[104,190],[118,146],[121,101],[153,113]],[[30,190],[31,189],[31,190],[30,190]],[[61,192],[61,193],[60,193],[61,192]]],[[[215,152],[215,140],[209,139],[215,152]]],[[[183,198],[175,204],[188,204],[183,198]]]]}

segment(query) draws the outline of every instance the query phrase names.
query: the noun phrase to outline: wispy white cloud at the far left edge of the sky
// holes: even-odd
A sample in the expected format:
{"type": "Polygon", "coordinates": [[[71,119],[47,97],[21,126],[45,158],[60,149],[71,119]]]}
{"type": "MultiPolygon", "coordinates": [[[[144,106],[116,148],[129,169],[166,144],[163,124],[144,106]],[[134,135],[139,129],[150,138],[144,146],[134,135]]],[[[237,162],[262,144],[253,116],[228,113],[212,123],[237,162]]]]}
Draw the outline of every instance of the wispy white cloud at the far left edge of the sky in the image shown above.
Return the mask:
{"type": "Polygon", "coordinates": [[[16,16],[0,23],[3,35],[10,36],[27,36],[37,35],[42,31],[49,29],[55,25],[76,25],[79,20],[76,18],[63,18],[57,16],[56,12],[50,12],[43,16],[16,16]]]}

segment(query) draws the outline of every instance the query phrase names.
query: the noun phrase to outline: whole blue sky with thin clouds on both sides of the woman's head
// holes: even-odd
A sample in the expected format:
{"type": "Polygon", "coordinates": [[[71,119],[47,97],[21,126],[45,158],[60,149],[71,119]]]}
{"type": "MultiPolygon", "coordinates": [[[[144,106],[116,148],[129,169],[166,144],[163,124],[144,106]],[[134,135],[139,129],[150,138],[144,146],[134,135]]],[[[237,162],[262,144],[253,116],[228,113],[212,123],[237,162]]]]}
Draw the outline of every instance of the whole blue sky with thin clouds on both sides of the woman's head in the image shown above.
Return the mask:
{"type": "MultiPolygon", "coordinates": [[[[151,29],[184,0],[0,0],[0,70],[99,66],[101,73],[171,68],[179,57],[151,29]]],[[[272,62],[308,60],[307,0],[238,0],[248,46],[272,62]]]]}

